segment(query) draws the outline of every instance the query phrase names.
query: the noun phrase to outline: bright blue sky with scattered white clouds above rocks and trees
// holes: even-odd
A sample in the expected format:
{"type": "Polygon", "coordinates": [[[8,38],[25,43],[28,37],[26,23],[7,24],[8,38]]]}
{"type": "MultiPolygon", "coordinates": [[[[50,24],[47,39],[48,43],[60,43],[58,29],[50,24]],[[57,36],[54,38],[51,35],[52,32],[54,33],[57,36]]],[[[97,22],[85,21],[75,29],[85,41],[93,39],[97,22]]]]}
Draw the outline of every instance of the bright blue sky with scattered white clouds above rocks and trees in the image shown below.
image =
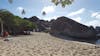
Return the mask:
{"type": "Polygon", "coordinates": [[[100,26],[100,0],[75,0],[71,5],[63,8],[60,4],[54,5],[51,0],[0,0],[0,9],[7,9],[20,17],[37,16],[43,20],[56,19],[60,16],[69,17],[87,26],[100,26]],[[25,9],[26,14],[21,11],[25,9]],[[46,15],[43,16],[42,12],[46,15]]]}

